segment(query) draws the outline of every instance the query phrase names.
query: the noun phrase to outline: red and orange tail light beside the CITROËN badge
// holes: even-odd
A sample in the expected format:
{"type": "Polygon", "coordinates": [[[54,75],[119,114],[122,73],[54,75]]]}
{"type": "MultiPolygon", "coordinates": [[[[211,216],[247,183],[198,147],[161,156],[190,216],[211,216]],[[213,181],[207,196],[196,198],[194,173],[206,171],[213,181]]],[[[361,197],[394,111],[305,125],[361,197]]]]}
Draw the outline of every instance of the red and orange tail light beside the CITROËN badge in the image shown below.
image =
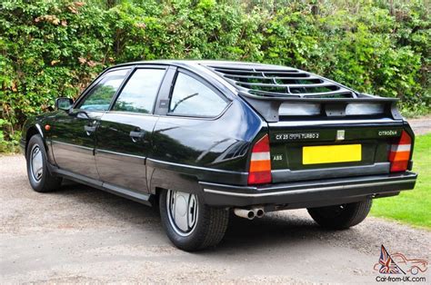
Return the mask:
{"type": "Polygon", "coordinates": [[[391,145],[389,152],[390,172],[405,172],[407,170],[411,149],[412,138],[406,131],[403,131],[399,141],[391,145]]]}

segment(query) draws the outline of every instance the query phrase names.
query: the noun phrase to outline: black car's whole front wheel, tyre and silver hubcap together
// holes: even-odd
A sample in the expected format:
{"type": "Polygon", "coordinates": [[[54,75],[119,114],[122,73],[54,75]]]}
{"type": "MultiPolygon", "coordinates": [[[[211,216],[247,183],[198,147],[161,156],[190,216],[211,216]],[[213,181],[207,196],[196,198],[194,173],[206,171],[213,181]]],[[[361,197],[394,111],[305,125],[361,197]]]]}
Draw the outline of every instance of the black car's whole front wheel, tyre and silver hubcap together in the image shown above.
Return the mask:
{"type": "Polygon", "coordinates": [[[62,179],[49,172],[45,145],[40,134],[35,134],[30,138],[25,159],[28,181],[35,192],[53,192],[60,188],[62,179]]]}

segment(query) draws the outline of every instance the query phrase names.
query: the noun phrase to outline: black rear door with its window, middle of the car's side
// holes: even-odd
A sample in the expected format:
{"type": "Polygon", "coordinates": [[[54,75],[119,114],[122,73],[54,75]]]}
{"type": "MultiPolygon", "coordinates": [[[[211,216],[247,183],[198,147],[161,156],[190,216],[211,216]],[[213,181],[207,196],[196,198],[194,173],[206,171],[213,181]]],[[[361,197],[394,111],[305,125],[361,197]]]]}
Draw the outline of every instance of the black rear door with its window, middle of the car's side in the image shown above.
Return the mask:
{"type": "Polygon", "coordinates": [[[145,158],[152,148],[155,98],[165,67],[135,68],[97,131],[95,160],[108,184],[147,192],[145,158]]]}

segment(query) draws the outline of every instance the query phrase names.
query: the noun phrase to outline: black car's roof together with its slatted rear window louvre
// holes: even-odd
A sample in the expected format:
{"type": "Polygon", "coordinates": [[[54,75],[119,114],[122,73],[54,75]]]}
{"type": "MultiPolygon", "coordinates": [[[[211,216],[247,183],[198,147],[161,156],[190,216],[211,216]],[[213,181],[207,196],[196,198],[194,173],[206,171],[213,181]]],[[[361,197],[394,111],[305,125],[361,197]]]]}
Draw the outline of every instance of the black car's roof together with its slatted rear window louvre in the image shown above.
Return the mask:
{"type": "MultiPolygon", "coordinates": [[[[155,60],[115,65],[164,64],[183,67],[196,74],[213,77],[225,86],[258,97],[356,98],[357,93],[343,84],[304,70],[276,64],[218,60],[155,60]]],[[[232,89],[231,89],[232,90],[232,89]]]]}

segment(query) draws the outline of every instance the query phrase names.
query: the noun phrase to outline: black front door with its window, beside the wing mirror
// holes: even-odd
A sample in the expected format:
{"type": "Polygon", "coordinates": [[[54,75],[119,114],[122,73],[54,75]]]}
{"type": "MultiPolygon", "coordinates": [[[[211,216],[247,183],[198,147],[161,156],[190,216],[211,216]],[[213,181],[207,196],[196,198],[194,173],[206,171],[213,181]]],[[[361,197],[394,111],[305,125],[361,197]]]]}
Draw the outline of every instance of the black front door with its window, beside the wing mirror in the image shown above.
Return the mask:
{"type": "Polygon", "coordinates": [[[60,169],[99,178],[95,167],[95,133],[128,71],[102,75],[74,109],[56,115],[50,135],[55,163],[60,169]]]}

